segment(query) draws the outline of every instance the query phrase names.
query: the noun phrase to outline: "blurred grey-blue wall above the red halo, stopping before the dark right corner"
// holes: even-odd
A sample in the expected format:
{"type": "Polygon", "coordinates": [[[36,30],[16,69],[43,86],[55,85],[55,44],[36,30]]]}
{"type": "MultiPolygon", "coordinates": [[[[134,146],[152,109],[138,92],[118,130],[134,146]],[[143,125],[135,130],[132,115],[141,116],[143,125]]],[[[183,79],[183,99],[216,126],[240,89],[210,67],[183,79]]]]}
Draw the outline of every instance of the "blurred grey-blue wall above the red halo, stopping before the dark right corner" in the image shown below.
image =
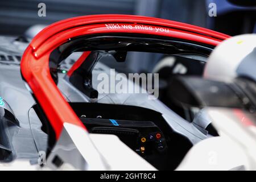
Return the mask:
{"type": "Polygon", "coordinates": [[[203,0],[0,0],[0,34],[21,35],[34,24],[92,14],[155,16],[206,26],[203,0]],[[46,4],[46,17],[38,16],[38,4],[46,4]]]}

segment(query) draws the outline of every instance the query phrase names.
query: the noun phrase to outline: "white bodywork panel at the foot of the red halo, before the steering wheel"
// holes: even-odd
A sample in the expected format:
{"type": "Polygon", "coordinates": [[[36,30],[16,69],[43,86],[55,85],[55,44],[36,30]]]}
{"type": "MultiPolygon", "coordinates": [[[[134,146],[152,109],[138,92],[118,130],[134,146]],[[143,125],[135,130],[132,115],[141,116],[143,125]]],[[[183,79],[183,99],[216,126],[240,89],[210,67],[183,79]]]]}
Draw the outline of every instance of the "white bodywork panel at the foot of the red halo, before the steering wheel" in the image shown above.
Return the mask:
{"type": "Polygon", "coordinates": [[[115,135],[88,134],[71,123],[64,123],[46,168],[61,168],[53,164],[56,156],[80,170],[155,170],[115,135]]]}

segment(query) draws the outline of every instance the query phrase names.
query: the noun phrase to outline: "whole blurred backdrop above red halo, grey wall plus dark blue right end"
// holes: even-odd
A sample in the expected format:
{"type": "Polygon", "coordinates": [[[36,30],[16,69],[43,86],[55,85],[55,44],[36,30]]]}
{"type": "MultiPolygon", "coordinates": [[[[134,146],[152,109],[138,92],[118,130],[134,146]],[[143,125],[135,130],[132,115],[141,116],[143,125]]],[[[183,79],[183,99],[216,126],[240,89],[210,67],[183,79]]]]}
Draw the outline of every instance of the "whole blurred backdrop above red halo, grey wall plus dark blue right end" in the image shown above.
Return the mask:
{"type": "Polygon", "coordinates": [[[22,35],[34,24],[92,14],[154,16],[237,35],[256,32],[255,11],[228,0],[0,0],[0,35],[22,35]],[[46,4],[46,17],[38,16],[41,2],[46,4]],[[216,17],[208,15],[212,2],[217,5],[216,17]]]}

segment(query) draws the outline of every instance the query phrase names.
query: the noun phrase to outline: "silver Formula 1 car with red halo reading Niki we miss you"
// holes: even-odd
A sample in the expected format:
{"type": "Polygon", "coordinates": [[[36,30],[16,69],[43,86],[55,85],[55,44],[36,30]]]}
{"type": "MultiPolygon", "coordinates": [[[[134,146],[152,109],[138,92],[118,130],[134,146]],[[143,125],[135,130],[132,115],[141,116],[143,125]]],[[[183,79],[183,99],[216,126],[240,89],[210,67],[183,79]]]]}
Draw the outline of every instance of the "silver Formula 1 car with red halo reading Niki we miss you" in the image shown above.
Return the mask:
{"type": "MultiPolygon", "coordinates": [[[[102,93],[99,76],[117,74],[104,61],[120,65],[132,52],[155,53],[162,60],[151,73],[160,80],[164,64],[171,65],[168,79],[202,76],[208,56],[227,38],[133,15],[61,20],[32,40],[1,37],[1,169],[176,169],[195,144],[218,135],[208,119],[196,117],[200,107],[177,104],[201,99],[190,100],[189,79],[174,77],[168,89],[159,88],[159,99],[152,92],[112,92],[111,80],[102,93]]],[[[144,89],[126,75],[119,80],[144,89]]]]}

